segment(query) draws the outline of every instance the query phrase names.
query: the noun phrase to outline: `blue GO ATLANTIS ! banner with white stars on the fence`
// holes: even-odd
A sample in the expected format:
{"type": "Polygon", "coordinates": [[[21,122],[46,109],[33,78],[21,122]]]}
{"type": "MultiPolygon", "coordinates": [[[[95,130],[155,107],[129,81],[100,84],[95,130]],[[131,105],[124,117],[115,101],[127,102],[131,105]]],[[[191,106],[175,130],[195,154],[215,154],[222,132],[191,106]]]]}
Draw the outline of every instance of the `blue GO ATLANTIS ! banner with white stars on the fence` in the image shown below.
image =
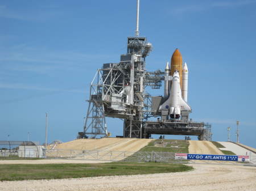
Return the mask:
{"type": "Polygon", "coordinates": [[[175,159],[225,160],[225,161],[250,162],[250,156],[237,156],[237,155],[201,155],[201,154],[175,153],[175,159]]]}

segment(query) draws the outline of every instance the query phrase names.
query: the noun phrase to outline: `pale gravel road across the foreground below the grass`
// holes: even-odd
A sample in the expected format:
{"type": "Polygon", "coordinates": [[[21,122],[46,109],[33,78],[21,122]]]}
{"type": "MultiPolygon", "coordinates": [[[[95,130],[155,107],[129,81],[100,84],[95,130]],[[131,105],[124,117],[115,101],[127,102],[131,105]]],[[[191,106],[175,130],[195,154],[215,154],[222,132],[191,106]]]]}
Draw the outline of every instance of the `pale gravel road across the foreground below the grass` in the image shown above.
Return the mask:
{"type": "Polygon", "coordinates": [[[3,181],[0,190],[256,190],[256,167],[193,164],[194,171],[63,180],[3,181]]]}

